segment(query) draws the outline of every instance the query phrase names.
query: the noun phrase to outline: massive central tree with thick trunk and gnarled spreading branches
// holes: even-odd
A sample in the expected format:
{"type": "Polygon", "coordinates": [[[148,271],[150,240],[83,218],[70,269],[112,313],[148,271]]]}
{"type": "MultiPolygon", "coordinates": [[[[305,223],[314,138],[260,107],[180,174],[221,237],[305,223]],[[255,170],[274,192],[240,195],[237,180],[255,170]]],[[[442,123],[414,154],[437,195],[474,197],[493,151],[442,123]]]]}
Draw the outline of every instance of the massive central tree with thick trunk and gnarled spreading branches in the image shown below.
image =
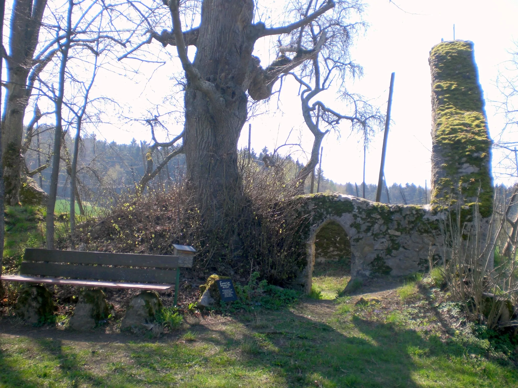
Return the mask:
{"type": "Polygon", "coordinates": [[[210,226],[225,208],[236,208],[235,204],[243,198],[237,140],[247,120],[248,97],[255,101],[269,98],[282,74],[313,58],[323,48],[326,33],[322,31],[311,47],[300,49],[291,57],[279,57],[266,68],[253,55],[255,42],[300,31],[327,12],[341,12],[346,3],[326,0],[308,14],[291,14],[290,21],[279,27],[254,22],[255,4],[251,0],[204,0],[201,7],[197,4],[167,2],[172,29],[159,35],[151,26],[149,38],[138,47],[153,39],[163,46],[176,46],[185,72],[186,178],[202,204],[202,212],[207,212],[210,226]],[[338,8],[332,11],[336,4],[338,8]],[[182,31],[185,14],[199,20],[199,26],[182,31]],[[193,62],[188,57],[189,46],[196,47],[193,62]]]}

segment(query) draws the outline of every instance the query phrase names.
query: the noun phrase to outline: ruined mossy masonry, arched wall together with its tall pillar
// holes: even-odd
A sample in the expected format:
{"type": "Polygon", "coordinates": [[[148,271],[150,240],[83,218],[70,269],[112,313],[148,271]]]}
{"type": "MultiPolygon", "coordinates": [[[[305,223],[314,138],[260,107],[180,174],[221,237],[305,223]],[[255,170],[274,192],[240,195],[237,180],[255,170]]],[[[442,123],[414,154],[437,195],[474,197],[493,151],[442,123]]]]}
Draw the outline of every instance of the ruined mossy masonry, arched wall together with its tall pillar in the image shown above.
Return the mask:
{"type": "Polygon", "coordinates": [[[346,231],[353,277],[407,275],[440,255],[440,219],[448,206],[473,209],[484,219],[493,211],[491,139],[474,62],[473,43],[441,42],[430,51],[432,86],[432,197],[425,206],[387,205],[339,193],[299,197],[310,217],[305,231],[307,266],[297,279],[311,290],[315,237],[330,221],[346,231]]]}

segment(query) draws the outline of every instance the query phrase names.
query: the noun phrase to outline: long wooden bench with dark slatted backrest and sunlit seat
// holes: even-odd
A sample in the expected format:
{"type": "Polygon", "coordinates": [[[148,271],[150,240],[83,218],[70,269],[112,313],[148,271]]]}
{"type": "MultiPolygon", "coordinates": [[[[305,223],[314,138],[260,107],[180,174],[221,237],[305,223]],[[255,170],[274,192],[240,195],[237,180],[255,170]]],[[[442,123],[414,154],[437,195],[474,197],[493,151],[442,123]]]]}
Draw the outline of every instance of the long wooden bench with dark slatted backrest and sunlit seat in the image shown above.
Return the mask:
{"type": "Polygon", "coordinates": [[[179,268],[191,268],[195,252],[193,247],[185,245],[174,245],[174,256],[26,248],[20,275],[2,275],[1,279],[159,291],[174,285],[176,306],[179,268]]]}

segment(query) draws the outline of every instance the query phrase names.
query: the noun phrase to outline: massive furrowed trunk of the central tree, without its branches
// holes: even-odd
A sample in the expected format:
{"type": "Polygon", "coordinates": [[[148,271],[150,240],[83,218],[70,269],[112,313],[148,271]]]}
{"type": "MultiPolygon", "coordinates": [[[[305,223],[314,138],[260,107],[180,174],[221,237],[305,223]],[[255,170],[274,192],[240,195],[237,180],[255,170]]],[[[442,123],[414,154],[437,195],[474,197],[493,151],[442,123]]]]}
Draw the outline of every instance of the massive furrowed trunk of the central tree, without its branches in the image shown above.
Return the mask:
{"type": "Polygon", "coordinates": [[[214,83],[225,103],[214,109],[190,84],[185,93],[187,176],[205,210],[221,211],[242,196],[237,141],[247,120],[246,83],[252,61],[251,0],[205,1],[193,67],[214,83]],[[244,87],[243,87],[244,86],[244,87]]]}

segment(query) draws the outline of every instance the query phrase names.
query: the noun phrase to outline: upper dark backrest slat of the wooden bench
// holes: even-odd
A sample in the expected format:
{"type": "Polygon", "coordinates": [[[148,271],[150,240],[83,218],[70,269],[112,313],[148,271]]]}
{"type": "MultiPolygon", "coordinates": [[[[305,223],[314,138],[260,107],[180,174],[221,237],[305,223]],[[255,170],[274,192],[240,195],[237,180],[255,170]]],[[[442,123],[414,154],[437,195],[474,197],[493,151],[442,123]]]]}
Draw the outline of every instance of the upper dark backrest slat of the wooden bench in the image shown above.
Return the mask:
{"type": "Polygon", "coordinates": [[[192,267],[192,259],[178,256],[135,255],[134,253],[84,252],[26,248],[25,261],[51,261],[56,263],[122,265],[132,267],[177,268],[192,267]]]}

